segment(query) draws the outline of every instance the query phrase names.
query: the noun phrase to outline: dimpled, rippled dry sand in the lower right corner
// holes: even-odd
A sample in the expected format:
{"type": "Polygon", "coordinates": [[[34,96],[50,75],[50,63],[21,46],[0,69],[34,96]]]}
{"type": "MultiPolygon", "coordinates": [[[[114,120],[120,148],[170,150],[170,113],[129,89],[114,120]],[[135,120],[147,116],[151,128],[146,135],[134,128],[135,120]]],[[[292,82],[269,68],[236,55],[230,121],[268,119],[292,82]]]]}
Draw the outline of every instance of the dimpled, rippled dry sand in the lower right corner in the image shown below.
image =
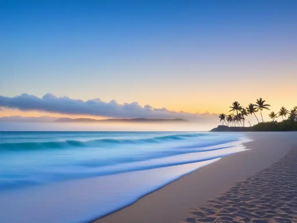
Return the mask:
{"type": "Polygon", "coordinates": [[[297,222],[297,147],[222,196],[192,209],[184,222],[297,222]]]}

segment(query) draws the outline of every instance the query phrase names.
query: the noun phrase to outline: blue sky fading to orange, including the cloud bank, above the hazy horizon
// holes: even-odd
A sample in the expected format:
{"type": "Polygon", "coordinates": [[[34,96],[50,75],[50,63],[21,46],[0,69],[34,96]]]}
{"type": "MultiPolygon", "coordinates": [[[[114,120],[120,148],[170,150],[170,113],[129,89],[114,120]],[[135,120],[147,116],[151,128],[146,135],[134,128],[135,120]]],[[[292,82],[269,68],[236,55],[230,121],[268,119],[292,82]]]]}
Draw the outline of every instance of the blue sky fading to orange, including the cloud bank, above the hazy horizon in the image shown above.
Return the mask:
{"type": "Polygon", "coordinates": [[[0,117],[201,120],[260,97],[291,109],[296,21],[295,0],[2,0],[0,117]]]}

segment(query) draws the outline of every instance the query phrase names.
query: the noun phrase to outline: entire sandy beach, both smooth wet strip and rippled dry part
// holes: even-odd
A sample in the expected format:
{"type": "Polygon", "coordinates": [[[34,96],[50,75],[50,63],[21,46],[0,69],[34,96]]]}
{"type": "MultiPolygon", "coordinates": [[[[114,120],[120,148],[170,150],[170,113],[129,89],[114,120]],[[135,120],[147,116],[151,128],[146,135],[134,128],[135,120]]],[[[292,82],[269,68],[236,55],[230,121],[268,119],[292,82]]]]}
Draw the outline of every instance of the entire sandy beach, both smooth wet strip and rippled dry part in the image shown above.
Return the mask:
{"type": "Polygon", "coordinates": [[[198,169],[96,223],[297,222],[297,132],[247,133],[250,149],[198,169]]]}

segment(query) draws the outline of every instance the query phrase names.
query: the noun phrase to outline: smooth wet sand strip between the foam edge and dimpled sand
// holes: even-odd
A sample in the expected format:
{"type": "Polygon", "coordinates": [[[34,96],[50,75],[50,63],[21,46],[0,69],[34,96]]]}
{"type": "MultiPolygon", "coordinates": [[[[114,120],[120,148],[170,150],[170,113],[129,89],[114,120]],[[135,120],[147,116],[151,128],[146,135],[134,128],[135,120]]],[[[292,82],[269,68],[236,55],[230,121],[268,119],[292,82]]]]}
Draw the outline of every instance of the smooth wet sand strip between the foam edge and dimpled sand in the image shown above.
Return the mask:
{"type": "MultiPolygon", "coordinates": [[[[237,181],[268,167],[284,157],[292,146],[297,145],[297,139],[290,137],[292,133],[246,133],[246,135],[254,140],[244,143],[244,146],[251,150],[223,157],[146,194],[129,206],[91,222],[183,221],[189,208],[202,205],[237,181]]],[[[294,133],[293,135],[297,136],[294,133]]]]}

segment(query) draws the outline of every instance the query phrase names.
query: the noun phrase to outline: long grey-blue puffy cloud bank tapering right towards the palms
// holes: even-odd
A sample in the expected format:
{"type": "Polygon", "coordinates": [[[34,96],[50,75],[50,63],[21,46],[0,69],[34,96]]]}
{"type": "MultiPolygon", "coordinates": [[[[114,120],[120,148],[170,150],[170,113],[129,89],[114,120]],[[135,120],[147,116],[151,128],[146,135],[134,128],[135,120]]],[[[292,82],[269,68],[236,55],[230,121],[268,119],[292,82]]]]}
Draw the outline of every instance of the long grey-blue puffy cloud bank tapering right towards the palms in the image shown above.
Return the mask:
{"type": "Polygon", "coordinates": [[[104,102],[99,98],[92,100],[71,99],[67,96],[56,97],[45,94],[42,98],[22,94],[15,97],[0,95],[0,107],[19,109],[21,111],[45,111],[60,114],[94,115],[113,118],[182,118],[191,121],[217,121],[217,114],[192,114],[174,112],[166,108],[153,108],[150,105],[140,106],[137,102],[118,104],[115,100],[104,102]],[[215,119],[214,119],[215,118],[215,119]]]}

